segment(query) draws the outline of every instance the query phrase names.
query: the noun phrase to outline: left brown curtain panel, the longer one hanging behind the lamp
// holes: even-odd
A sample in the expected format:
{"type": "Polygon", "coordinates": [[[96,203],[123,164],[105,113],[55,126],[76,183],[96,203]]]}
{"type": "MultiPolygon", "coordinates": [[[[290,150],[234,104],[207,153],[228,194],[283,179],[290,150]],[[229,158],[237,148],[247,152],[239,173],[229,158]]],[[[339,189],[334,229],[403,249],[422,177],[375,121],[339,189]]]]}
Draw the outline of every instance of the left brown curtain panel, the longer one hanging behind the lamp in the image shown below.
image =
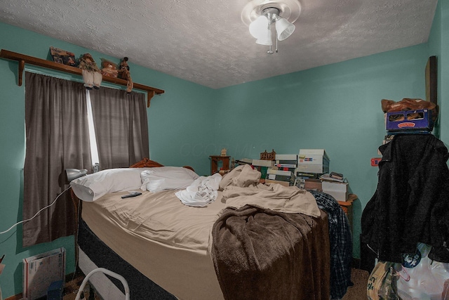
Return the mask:
{"type": "MultiPolygon", "coordinates": [[[[65,169],[92,171],[83,84],[29,72],[25,80],[24,220],[68,188],[65,169]]],[[[69,194],[24,223],[23,247],[74,233],[69,194]]]]}

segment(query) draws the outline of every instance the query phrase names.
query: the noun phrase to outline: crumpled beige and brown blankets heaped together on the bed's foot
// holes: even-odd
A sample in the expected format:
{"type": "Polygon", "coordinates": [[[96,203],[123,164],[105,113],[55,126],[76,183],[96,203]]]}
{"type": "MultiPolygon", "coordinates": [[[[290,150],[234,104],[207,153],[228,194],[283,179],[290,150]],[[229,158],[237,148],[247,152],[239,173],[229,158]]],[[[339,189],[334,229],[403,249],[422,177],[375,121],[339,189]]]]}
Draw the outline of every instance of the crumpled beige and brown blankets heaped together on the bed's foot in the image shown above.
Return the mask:
{"type": "Polygon", "coordinates": [[[328,300],[326,212],[309,192],[262,185],[257,173],[243,165],[220,183],[227,208],[213,226],[210,253],[223,296],[328,300]]]}

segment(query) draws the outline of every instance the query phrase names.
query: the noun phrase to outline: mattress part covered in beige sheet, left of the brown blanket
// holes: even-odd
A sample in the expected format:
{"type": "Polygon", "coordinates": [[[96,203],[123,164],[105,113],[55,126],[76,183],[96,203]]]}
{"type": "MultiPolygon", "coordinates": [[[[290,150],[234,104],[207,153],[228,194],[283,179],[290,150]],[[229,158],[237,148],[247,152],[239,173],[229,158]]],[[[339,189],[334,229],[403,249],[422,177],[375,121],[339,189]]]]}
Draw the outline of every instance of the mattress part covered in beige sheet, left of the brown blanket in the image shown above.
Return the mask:
{"type": "Polygon", "coordinates": [[[88,228],[122,259],[178,299],[223,299],[210,257],[211,230],[225,208],[187,207],[174,190],[83,202],[88,228]]]}

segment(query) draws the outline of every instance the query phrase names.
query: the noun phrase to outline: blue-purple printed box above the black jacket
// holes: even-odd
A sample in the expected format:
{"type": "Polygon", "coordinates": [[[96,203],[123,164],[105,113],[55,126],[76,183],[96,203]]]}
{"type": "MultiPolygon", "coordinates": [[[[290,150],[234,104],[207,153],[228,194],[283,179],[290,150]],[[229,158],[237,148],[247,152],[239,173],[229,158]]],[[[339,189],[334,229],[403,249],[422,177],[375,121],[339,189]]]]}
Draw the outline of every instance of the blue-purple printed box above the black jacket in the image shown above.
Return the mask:
{"type": "Polygon", "coordinates": [[[431,119],[431,110],[387,112],[385,129],[387,131],[432,131],[434,124],[431,119]]]}

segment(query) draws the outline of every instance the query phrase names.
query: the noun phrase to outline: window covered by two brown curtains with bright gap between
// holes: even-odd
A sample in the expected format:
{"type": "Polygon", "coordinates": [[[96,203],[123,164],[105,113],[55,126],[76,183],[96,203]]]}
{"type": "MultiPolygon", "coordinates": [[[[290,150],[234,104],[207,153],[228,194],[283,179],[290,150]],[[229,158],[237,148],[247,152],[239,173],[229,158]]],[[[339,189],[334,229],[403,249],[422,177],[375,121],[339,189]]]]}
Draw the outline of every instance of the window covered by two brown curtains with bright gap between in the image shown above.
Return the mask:
{"type": "MultiPolygon", "coordinates": [[[[68,188],[65,169],[91,173],[97,162],[100,169],[110,169],[149,157],[142,93],[104,87],[86,93],[79,82],[26,72],[25,129],[23,220],[68,188]]],[[[64,193],[23,224],[23,247],[72,235],[74,224],[72,200],[64,193]]]]}

